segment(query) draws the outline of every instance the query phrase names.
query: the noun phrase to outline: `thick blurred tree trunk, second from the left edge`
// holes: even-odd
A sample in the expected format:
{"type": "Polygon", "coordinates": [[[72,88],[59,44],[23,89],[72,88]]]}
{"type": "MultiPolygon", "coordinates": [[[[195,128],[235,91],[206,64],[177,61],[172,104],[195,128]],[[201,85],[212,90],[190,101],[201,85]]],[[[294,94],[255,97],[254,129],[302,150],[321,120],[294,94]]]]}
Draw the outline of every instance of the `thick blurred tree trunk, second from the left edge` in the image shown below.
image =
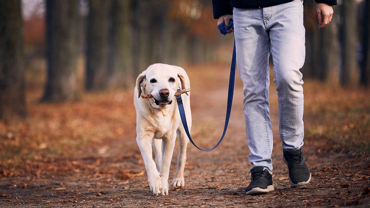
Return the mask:
{"type": "Polygon", "coordinates": [[[78,2],[46,1],[48,73],[43,101],[60,102],[79,97],[76,75],[80,43],[78,2]]]}

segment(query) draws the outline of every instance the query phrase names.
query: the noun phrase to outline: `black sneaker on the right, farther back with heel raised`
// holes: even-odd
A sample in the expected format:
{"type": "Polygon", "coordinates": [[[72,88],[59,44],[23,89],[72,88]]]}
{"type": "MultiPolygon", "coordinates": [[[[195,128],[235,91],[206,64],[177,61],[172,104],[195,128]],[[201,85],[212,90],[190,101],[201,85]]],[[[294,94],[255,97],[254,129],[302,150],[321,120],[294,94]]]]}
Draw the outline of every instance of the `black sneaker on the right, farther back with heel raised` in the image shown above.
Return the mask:
{"type": "Polygon", "coordinates": [[[293,187],[303,186],[311,181],[311,173],[305,160],[303,160],[303,151],[301,149],[284,150],[283,160],[288,166],[288,178],[293,187]]]}

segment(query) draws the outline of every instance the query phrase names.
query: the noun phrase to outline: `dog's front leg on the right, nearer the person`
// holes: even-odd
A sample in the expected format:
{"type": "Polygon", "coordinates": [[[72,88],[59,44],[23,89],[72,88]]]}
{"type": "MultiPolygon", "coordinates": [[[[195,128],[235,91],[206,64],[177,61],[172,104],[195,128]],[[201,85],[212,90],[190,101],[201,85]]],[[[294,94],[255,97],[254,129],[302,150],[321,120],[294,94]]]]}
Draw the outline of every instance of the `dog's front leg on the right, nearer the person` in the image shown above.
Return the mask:
{"type": "Polygon", "coordinates": [[[171,165],[172,154],[174,153],[176,134],[175,132],[168,137],[162,138],[162,195],[168,195],[168,176],[169,166],[171,165]]]}

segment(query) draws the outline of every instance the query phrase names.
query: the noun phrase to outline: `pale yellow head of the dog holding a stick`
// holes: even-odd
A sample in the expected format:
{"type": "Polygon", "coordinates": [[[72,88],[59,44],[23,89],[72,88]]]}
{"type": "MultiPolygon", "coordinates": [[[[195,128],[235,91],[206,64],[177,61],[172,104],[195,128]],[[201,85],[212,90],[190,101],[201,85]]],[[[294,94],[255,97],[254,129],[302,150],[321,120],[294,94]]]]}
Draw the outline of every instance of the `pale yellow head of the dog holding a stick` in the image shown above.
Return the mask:
{"type": "Polygon", "coordinates": [[[168,64],[153,64],[143,71],[136,80],[139,98],[142,88],[145,94],[151,94],[154,98],[153,107],[164,108],[172,103],[177,88],[185,87],[184,75],[178,70],[179,67],[168,64]]]}

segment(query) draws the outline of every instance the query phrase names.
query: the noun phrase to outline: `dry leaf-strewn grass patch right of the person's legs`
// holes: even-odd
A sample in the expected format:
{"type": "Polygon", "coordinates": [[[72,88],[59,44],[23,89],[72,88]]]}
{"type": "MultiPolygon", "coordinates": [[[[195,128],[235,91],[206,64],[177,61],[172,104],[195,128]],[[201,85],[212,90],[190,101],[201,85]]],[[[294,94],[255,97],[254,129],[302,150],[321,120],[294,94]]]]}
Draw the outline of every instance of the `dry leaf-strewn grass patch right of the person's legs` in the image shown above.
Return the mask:
{"type": "Polygon", "coordinates": [[[323,149],[370,152],[370,91],[305,83],[305,138],[323,149]]]}

